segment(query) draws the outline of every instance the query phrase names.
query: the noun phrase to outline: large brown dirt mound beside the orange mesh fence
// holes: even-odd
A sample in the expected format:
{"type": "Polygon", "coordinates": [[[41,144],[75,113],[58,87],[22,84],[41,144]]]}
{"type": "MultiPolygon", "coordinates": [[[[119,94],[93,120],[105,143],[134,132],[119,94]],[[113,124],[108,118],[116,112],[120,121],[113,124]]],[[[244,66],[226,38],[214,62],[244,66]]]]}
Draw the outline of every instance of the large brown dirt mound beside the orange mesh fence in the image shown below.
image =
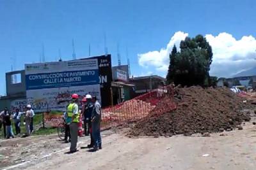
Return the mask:
{"type": "MultiPolygon", "coordinates": [[[[132,127],[129,135],[172,136],[220,132],[232,130],[243,120],[250,120],[248,115],[240,112],[243,99],[227,88],[176,87],[174,90],[177,109],[171,113],[148,115],[132,127]]],[[[166,102],[170,102],[168,97],[159,104],[165,106],[166,102]]]]}

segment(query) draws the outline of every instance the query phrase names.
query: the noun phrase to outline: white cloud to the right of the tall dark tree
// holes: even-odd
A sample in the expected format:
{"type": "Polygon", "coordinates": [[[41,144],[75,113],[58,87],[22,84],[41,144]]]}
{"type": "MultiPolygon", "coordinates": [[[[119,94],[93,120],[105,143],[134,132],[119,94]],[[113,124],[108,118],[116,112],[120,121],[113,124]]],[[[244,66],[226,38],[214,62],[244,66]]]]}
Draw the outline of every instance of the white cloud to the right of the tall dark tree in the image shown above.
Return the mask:
{"type": "Polygon", "coordinates": [[[212,46],[211,74],[234,76],[256,67],[256,39],[253,36],[236,40],[231,34],[222,32],[218,36],[207,34],[205,38],[212,46]]]}

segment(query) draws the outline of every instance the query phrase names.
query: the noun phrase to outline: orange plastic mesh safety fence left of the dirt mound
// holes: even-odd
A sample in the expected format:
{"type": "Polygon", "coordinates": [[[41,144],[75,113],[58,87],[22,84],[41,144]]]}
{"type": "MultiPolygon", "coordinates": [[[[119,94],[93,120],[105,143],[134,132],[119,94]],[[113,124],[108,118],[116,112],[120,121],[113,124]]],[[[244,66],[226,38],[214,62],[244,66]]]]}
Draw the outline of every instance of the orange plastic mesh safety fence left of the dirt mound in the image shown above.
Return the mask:
{"type": "MultiPolygon", "coordinates": [[[[148,115],[160,115],[175,110],[173,101],[173,87],[166,86],[155,89],[124,103],[102,109],[101,129],[109,129],[118,125],[141,120],[148,115]]],[[[57,127],[62,122],[61,115],[45,114],[45,124],[57,127]]]]}

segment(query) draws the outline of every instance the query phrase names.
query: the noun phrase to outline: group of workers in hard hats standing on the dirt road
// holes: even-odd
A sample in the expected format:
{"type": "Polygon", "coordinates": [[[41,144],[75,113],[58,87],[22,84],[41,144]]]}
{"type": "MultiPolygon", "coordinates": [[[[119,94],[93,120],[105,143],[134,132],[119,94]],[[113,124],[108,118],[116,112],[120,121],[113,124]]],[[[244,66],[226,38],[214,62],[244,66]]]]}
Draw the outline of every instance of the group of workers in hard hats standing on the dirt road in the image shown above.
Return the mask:
{"type": "Polygon", "coordinates": [[[77,152],[77,136],[78,124],[80,117],[84,121],[84,133],[90,134],[91,142],[87,146],[93,148],[92,151],[102,149],[101,136],[100,136],[100,120],[101,120],[101,106],[97,101],[97,97],[87,94],[82,99],[81,115],[79,114],[79,96],[72,94],[72,101],[67,106],[65,113],[65,142],[70,142],[70,153],[77,152]],[[69,137],[69,139],[68,139],[69,137]]]}

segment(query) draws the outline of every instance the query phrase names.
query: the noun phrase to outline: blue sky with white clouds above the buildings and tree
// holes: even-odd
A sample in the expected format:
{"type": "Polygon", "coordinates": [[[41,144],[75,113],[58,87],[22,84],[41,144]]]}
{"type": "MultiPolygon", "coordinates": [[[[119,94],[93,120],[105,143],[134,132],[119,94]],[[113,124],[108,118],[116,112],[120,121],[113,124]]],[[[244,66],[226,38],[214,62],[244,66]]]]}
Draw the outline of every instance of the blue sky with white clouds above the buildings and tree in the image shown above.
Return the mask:
{"type": "Polygon", "coordinates": [[[131,74],[166,76],[168,53],[186,36],[202,34],[212,46],[210,74],[230,77],[256,66],[255,0],[0,0],[0,94],[5,73],[40,61],[104,54],[112,65],[117,45],[131,74]]]}

